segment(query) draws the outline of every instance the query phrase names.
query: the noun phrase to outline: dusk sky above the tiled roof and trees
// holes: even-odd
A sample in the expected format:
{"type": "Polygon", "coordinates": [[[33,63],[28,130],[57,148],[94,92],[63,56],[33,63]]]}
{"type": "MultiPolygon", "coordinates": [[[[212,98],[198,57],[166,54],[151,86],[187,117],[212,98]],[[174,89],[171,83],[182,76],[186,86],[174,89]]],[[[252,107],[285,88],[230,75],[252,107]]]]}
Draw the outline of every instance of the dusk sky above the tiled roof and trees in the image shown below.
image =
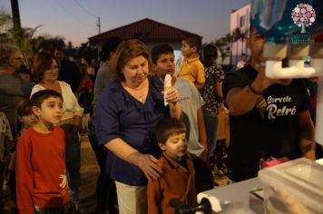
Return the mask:
{"type": "MultiPolygon", "coordinates": [[[[23,27],[36,27],[37,34],[60,35],[65,43],[87,42],[101,32],[130,24],[143,18],[203,36],[203,43],[229,33],[230,12],[250,0],[19,0],[23,27]]],[[[0,0],[0,10],[11,14],[9,0],[0,0]]]]}

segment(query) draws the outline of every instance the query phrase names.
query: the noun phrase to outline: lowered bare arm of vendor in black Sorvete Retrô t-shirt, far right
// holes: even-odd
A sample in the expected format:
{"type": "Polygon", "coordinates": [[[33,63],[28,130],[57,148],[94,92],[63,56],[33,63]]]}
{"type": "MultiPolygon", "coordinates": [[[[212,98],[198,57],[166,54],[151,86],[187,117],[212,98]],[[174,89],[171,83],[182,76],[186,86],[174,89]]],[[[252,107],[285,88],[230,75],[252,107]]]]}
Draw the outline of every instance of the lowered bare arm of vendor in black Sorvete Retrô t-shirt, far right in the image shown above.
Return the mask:
{"type": "Polygon", "coordinates": [[[310,160],[316,160],[314,125],[309,111],[298,113],[299,122],[299,147],[302,155],[310,160]]]}

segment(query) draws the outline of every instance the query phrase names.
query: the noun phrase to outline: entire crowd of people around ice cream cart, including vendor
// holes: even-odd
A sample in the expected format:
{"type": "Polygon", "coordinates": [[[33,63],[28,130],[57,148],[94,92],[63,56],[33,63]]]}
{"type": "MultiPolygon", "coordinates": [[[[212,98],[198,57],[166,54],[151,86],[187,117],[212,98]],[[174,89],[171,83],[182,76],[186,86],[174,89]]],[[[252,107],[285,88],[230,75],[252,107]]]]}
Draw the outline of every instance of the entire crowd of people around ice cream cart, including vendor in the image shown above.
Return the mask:
{"type": "MultiPolygon", "coordinates": [[[[100,166],[99,214],[174,213],[171,199],[196,205],[215,175],[236,182],[266,160],[315,160],[306,85],[265,76],[264,41],[251,27],[250,60],[225,74],[196,34],[182,39],[177,64],[170,44],[111,37],[99,68],[57,47],[34,54],[29,78],[20,51],[0,44],[0,186],[8,178],[23,214],[86,213],[81,133],[100,166]]],[[[0,212],[3,198],[1,189],[0,212]]]]}

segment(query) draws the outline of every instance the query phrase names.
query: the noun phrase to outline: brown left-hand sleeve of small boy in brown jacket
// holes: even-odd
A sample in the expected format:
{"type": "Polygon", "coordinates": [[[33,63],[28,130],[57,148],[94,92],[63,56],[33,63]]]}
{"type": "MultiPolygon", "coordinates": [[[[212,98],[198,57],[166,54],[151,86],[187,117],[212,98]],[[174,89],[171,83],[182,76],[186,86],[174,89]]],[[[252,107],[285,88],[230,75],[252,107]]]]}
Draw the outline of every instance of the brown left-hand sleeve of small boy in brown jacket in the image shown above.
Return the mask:
{"type": "Polygon", "coordinates": [[[162,205],[162,190],[160,180],[148,181],[147,185],[147,204],[148,214],[158,214],[162,205]]]}

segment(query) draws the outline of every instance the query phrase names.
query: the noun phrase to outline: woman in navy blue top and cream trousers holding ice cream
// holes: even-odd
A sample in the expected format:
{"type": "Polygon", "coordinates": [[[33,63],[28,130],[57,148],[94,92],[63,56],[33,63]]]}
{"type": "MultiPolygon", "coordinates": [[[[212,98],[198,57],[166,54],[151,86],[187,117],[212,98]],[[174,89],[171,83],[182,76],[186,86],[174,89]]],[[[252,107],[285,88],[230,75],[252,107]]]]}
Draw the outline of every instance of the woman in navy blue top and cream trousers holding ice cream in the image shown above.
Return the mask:
{"type": "Polygon", "coordinates": [[[106,170],[116,182],[120,213],[146,213],[147,179],[162,173],[153,128],[168,115],[181,118],[179,93],[170,89],[163,95],[161,81],[149,75],[151,55],[139,40],[120,44],[114,63],[114,80],[94,110],[95,132],[109,151],[106,170]]]}

